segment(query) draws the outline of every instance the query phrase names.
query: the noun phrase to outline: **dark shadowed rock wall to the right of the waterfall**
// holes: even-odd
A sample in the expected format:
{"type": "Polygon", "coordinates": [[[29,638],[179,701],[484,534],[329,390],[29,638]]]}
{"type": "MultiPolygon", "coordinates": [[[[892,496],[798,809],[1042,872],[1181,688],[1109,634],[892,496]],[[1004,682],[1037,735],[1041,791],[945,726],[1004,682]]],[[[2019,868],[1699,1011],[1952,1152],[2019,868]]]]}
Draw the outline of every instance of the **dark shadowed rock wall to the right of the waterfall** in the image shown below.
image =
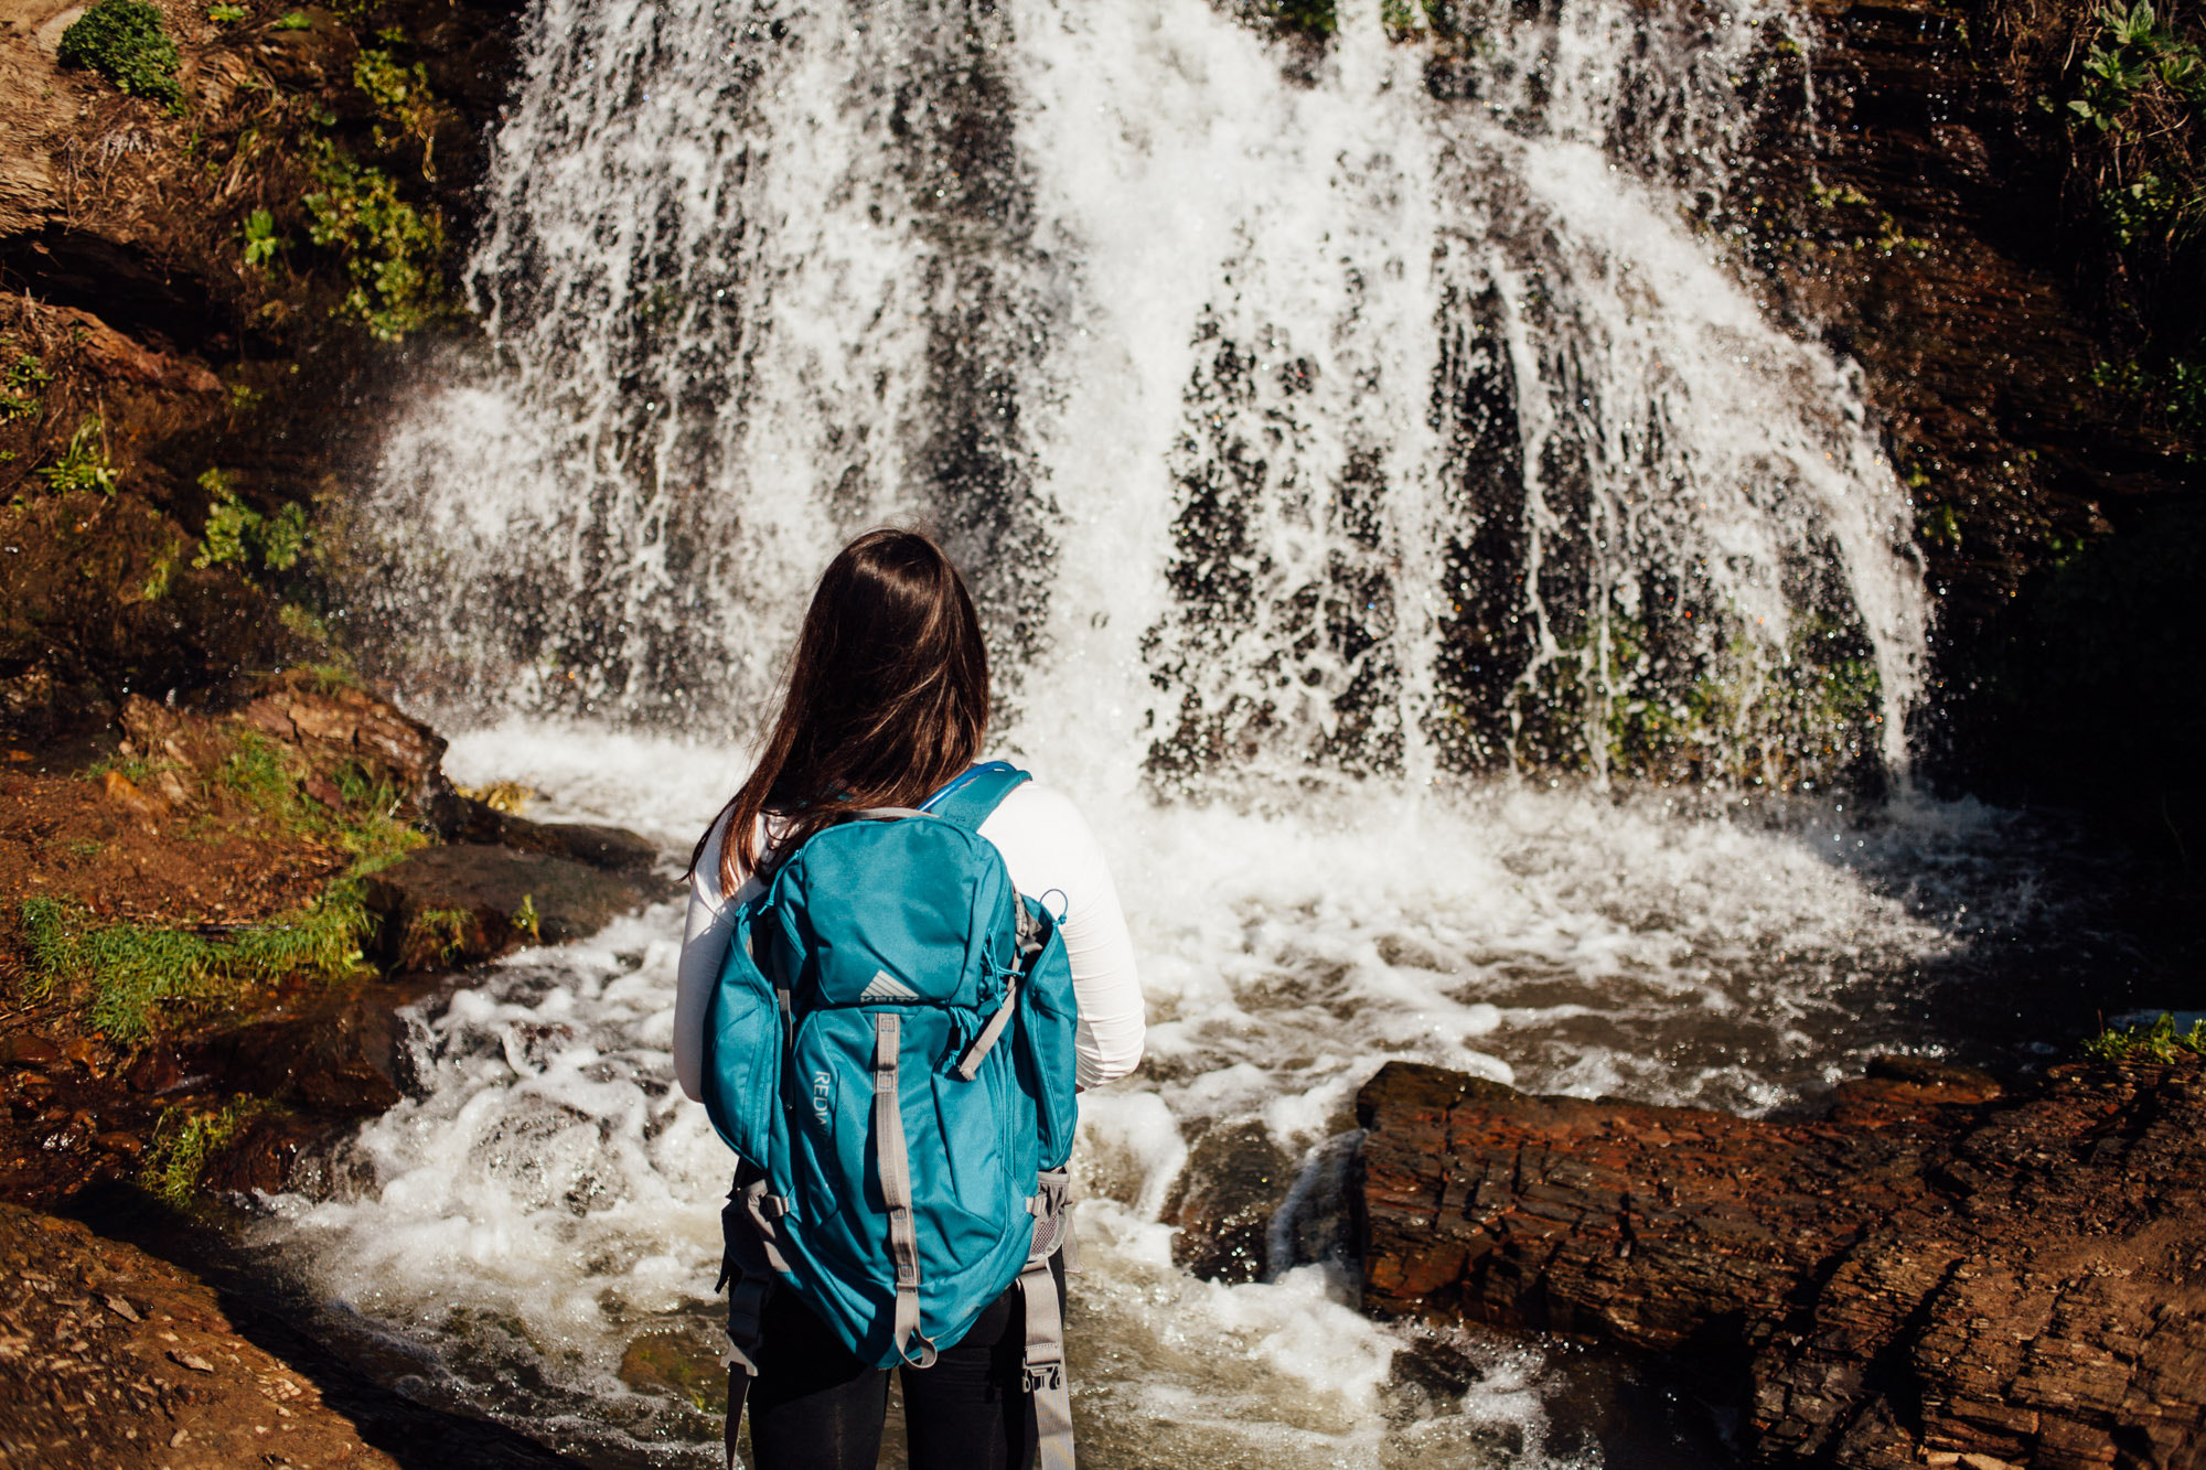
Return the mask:
{"type": "Polygon", "coordinates": [[[2142,803],[2140,834],[2177,856],[2171,825],[2206,814],[2186,757],[2206,739],[2206,437],[2111,386],[2171,322],[2138,320],[2151,302],[2036,106],[2060,86],[2012,33],[2043,15],[1809,9],[1811,75],[1778,88],[1756,148],[1754,254],[1778,307],[1862,364],[1913,490],[1937,596],[1921,755],[1999,799],[2142,803]]]}

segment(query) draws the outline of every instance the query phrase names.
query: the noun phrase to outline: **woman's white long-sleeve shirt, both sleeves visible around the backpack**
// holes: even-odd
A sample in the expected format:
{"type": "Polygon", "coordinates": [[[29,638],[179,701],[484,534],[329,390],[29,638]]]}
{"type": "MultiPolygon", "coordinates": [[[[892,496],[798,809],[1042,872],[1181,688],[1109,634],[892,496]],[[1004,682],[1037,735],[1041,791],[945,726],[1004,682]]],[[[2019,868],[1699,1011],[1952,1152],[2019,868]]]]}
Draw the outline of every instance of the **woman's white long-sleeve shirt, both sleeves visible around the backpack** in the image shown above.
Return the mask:
{"type": "MultiPolygon", "coordinates": [[[[1021,894],[1046,903],[1052,914],[1063,914],[1072,993],[1081,1004],[1074,1042],[1079,1086],[1094,1088],[1125,1077],[1141,1064],[1147,1015],[1141,978],[1134,973],[1134,940],[1125,929],[1118,890],[1110,881],[1094,832],[1081,821],[1072,801],[1026,781],[979,823],[979,834],[1004,854],[1004,867],[1021,894]]],[[[726,837],[721,819],[706,839],[697,872],[690,874],[688,925],[682,934],[675,1077],[690,1097],[699,1097],[704,1086],[704,1009],[728,960],[735,905],[761,892],[759,878],[750,876],[735,898],[721,898],[719,852],[726,837]]]]}

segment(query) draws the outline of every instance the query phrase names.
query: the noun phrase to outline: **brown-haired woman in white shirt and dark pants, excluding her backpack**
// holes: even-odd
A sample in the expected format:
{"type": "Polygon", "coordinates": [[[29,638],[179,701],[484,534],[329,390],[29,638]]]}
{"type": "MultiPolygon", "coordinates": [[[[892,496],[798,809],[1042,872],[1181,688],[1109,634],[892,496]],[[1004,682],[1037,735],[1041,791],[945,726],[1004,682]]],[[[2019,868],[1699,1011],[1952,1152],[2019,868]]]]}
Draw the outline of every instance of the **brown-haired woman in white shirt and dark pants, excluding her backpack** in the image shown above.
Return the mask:
{"type": "MultiPolygon", "coordinates": [[[[805,614],[788,691],[757,768],[690,859],[688,929],[675,1006],[675,1073],[704,1088],[704,1011],[737,905],[777,859],[865,808],[915,808],[968,770],[988,720],[988,656],[964,580],[933,541],[876,530],[827,565],[805,614]]],[[[1079,1086],[1141,1062],[1143,1002],[1125,916],[1094,837],[1061,795],[1026,784],[979,825],[1021,894],[1048,896],[1079,995],[1079,1086]]],[[[1026,1466],[1015,1291],[927,1368],[902,1368],[913,1470],[1026,1466]]],[[[759,1470],[871,1468],[889,1373],[858,1360],[792,1291],[768,1298],[750,1441],[759,1470]]]]}

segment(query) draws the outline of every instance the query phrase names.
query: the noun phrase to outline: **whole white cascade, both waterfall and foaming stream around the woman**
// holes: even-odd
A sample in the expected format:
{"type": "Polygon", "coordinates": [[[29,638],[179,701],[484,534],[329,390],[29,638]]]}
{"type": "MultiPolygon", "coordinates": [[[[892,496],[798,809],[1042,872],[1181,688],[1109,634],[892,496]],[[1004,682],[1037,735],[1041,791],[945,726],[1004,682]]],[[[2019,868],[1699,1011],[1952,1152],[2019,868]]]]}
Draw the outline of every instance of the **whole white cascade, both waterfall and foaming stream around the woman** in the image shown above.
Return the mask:
{"type": "MultiPolygon", "coordinates": [[[[1988,814],[1756,795],[1904,773],[1926,636],[1851,369],[1694,223],[1805,38],[1765,0],[1229,11],[540,0],[485,340],[388,430],[362,598],[454,773],[673,859],[834,547],[935,525],[1152,1002],[1143,1077],[1083,1099],[1083,1459],[1599,1463],[1575,1368],[1348,1307],[1354,1088],[1769,1108],[1910,1040],[1888,1000],[2005,894],[1893,896],[1988,814]],[[1227,1205],[1264,1280],[1176,1263],[1227,1205]]],[[[677,938],[426,1006],[417,1093],[267,1227],[421,1393],[604,1466],[717,1432],[677,938]]]]}

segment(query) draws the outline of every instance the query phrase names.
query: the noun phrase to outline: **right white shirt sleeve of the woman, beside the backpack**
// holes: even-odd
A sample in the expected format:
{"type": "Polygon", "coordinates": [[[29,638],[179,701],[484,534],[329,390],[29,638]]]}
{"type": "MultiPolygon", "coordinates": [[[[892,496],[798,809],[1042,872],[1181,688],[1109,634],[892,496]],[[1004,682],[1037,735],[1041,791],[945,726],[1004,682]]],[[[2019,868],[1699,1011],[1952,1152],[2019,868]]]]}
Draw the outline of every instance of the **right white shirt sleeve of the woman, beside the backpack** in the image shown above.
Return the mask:
{"type": "Polygon", "coordinates": [[[1141,1066],[1149,1022],[1134,971],[1134,936],[1103,845],[1072,801],[1035,784],[1004,797],[979,834],[1004,854],[1021,894],[1063,914],[1072,993],[1081,1004],[1079,1084],[1099,1088],[1125,1077],[1141,1066]]]}

